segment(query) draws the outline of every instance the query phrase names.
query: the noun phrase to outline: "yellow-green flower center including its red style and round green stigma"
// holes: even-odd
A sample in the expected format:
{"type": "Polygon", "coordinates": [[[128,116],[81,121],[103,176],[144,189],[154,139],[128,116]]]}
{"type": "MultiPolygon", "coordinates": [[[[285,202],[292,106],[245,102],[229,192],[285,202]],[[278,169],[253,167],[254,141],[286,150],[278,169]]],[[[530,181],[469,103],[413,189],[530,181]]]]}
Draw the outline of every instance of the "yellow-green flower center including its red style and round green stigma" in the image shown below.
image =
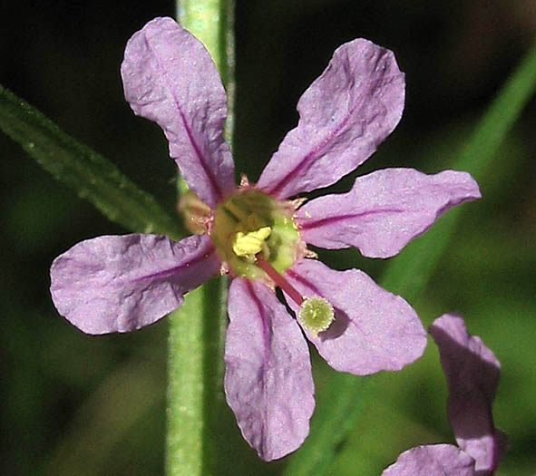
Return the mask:
{"type": "Polygon", "coordinates": [[[214,211],[209,233],[233,276],[280,287],[299,306],[301,325],[316,336],[331,325],[334,309],[324,297],[302,296],[285,277],[297,258],[307,256],[292,219],[294,209],[257,189],[240,188],[214,211]]]}

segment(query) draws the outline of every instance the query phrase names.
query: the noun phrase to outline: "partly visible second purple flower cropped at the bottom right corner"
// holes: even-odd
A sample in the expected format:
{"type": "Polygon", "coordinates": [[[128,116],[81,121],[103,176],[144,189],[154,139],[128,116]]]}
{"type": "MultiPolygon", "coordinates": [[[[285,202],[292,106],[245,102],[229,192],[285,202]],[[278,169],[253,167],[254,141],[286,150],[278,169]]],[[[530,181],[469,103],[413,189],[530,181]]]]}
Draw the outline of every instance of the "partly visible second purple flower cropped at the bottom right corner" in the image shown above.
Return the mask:
{"type": "Polygon", "coordinates": [[[403,452],[384,476],[493,474],[506,451],[506,434],[493,424],[492,403],[501,364],[463,318],[445,314],[430,334],[439,347],[449,387],[448,415],[458,446],[430,444],[403,452]]]}

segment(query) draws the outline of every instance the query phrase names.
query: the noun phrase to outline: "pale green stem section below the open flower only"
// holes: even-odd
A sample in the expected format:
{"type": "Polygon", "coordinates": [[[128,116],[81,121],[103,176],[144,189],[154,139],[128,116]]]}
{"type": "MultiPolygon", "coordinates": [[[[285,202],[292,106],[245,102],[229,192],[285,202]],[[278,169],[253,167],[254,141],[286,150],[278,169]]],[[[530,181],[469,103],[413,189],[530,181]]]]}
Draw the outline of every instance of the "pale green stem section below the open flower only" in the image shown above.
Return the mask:
{"type": "Polygon", "coordinates": [[[186,296],[170,324],[167,473],[214,474],[219,409],[225,405],[223,335],[227,279],[212,279],[186,296]]]}

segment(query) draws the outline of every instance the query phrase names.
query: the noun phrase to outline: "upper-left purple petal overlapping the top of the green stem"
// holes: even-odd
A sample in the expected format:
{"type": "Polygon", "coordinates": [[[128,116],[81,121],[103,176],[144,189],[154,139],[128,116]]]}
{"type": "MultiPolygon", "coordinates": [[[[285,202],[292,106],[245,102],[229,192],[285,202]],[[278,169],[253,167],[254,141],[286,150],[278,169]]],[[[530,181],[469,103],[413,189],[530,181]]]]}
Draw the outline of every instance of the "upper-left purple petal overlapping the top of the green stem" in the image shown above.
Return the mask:
{"type": "Polygon", "coordinates": [[[121,74],[132,110],[161,126],[190,189],[214,208],[235,184],[227,96],[210,54],[171,18],[155,18],[129,40],[121,74]]]}

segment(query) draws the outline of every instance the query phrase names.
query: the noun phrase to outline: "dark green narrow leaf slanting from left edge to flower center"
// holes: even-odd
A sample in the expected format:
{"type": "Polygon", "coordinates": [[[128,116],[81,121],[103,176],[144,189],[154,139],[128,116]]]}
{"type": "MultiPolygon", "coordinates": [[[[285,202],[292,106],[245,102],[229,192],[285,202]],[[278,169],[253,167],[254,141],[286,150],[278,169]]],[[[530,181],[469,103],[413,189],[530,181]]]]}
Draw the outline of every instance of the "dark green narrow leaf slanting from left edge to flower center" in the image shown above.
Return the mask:
{"type": "Polygon", "coordinates": [[[152,196],[122,175],[112,162],[75,141],[53,121],[0,86],[0,128],[44,170],[73,188],[102,214],[137,232],[184,236],[152,196]]]}

